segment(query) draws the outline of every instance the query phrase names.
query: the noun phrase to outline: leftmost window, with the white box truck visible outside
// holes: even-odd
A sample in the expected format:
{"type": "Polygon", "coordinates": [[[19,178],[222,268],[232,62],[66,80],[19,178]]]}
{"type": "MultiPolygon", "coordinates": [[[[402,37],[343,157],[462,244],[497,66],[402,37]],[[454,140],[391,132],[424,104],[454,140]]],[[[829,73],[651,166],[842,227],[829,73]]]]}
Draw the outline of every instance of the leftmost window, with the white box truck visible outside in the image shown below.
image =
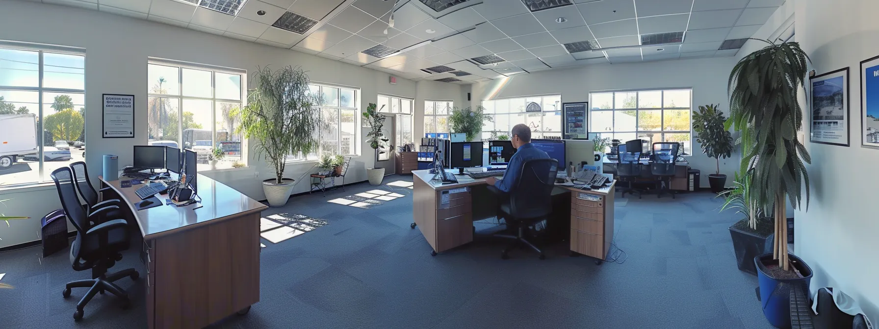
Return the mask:
{"type": "Polygon", "coordinates": [[[0,184],[49,181],[84,157],[84,50],[0,41],[0,184]]]}

